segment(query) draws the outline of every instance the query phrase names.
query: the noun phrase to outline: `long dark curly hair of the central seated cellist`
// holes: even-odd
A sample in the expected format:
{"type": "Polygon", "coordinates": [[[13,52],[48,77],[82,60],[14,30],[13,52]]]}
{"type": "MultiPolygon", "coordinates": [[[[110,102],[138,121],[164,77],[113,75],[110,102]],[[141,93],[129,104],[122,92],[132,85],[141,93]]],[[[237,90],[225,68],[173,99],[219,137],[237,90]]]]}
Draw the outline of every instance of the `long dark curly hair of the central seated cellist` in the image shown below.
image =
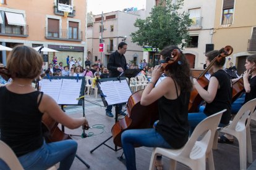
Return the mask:
{"type": "MultiPolygon", "coordinates": [[[[164,57],[164,59],[166,59],[166,57],[170,57],[171,52],[173,52],[174,49],[178,49],[181,52],[181,49],[179,49],[177,46],[167,46],[164,47],[160,54],[164,57]]],[[[169,67],[167,75],[176,81],[179,87],[181,87],[181,91],[190,92],[192,90],[193,84],[191,80],[189,63],[182,52],[179,62],[176,62],[169,67]]]]}

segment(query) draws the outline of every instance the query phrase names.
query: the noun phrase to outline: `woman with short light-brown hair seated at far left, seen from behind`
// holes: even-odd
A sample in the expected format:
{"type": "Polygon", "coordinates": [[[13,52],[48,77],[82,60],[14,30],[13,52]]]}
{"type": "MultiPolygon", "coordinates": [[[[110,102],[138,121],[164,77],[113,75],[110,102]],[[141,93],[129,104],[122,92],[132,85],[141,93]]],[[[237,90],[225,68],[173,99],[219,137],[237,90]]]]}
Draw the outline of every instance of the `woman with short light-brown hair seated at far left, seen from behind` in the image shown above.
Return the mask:
{"type": "MultiPolygon", "coordinates": [[[[31,47],[16,46],[7,60],[7,69],[0,69],[11,83],[0,87],[1,140],[12,148],[24,169],[47,169],[60,162],[59,169],[69,169],[77,150],[77,142],[63,140],[46,144],[41,119],[48,114],[64,126],[75,129],[88,126],[85,118],[70,118],[58,104],[32,87],[41,73],[42,57],[31,47]]],[[[0,160],[0,167],[6,168],[0,160]]]]}

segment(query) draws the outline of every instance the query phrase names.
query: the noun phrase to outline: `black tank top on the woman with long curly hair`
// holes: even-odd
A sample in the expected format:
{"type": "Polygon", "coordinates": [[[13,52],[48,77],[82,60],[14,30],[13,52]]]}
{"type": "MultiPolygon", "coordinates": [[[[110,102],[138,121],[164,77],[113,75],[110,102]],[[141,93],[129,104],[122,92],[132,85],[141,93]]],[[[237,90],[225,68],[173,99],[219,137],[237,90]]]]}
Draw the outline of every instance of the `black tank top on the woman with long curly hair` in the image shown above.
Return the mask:
{"type": "MultiPolygon", "coordinates": [[[[175,87],[176,87],[176,83],[175,87]]],[[[173,148],[183,147],[189,139],[188,106],[190,92],[182,92],[177,99],[170,100],[164,96],[158,100],[159,122],[156,131],[173,148]]]]}

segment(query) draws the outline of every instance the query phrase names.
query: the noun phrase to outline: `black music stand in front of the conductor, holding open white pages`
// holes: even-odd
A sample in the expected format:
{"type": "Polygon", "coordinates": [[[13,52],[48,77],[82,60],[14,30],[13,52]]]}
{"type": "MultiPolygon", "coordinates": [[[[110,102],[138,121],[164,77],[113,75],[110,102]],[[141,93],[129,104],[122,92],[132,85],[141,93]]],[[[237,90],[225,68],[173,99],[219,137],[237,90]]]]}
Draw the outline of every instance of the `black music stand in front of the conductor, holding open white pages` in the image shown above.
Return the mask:
{"type": "MultiPolygon", "coordinates": [[[[108,102],[107,102],[107,100],[106,100],[106,95],[104,94],[104,90],[103,89],[101,89],[101,83],[103,83],[103,82],[105,82],[105,81],[120,81],[120,83],[121,83],[121,81],[122,80],[125,80],[126,81],[126,78],[124,78],[124,77],[119,77],[119,78],[105,78],[105,79],[98,79],[98,82],[97,82],[97,86],[98,86],[98,89],[99,89],[99,91],[100,91],[100,95],[101,95],[101,99],[102,99],[102,101],[103,101],[103,104],[104,104],[104,106],[105,107],[107,107],[108,106],[108,102]]],[[[127,84],[127,81],[126,81],[126,84],[127,84]]],[[[111,89],[113,89],[113,86],[109,86],[111,89]]],[[[130,91],[130,89],[129,89],[129,86],[127,86],[127,91],[130,91]]],[[[131,95],[131,92],[130,92],[130,95],[131,95]]],[[[127,101],[128,101],[128,99],[127,99],[127,101]]],[[[126,102],[127,102],[126,101],[126,102]]],[[[119,105],[120,104],[122,104],[122,103],[125,103],[125,102],[121,102],[121,103],[112,103],[111,105],[115,105],[116,107],[115,107],[115,112],[116,112],[116,114],[115,114],[115,123],[117,122],[117,120],[118,120],[118,107],[119,107],[119,105]]],[[[107,144],[105,144],[109,139],[111,139],[113,136],[110,136],[108,139],[106,139],[106,140],[104,140],[100,145],[98,145],[98,146],[96,146],[95,148],[93,148],[93,150],[91,150],[90,151],[90,153],[93,153],[93,151],[95,151],[98,147],[100,147],[101,145],[105,145],[106,147],[108,147],[108,148],[111,148],[111,150],[114,150],[115,152],[117,152],[118,150],[121,150],[122,148],[117,148],[117,145],[115,145],[114,146],[114,148],[112,148],[112,147],[110,147],[109,145],[107,145],[107,144]]]]}

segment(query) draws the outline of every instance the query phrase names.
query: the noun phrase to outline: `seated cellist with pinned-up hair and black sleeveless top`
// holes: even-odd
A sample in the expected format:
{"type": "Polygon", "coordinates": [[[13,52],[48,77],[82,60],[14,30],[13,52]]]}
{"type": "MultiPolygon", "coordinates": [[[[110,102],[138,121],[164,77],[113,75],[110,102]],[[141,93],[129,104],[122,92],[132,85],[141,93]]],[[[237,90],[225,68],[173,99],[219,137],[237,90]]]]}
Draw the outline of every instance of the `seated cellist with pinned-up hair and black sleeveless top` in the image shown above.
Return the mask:
{"type": "MultiPolygon", "coordinates": [[[[206,54],[207,67],[210,62],[219,56],[219,51],[210,51],[206,54]]],[[[228,73],[223,70],[223,65],[226,59],[222,58],[220,62],[216,60],[213,66],[210,68],[211,73],[208,89],[203,89],[198,84],[197,79],[193,79],[194,87],[197,89],[198,94],[205,100],[205,107],[200,107],[199,113],[189,113],[189,124],[191,131],[194,131],[200,121],[207,118],[207,116],[213,115],[214,113],[227,109],[221,117],[221,123],[219,126],[226,126],[229,124],[231,118],[231,99],[232,99],[232,86],[231,79],[228,73]]]]}

